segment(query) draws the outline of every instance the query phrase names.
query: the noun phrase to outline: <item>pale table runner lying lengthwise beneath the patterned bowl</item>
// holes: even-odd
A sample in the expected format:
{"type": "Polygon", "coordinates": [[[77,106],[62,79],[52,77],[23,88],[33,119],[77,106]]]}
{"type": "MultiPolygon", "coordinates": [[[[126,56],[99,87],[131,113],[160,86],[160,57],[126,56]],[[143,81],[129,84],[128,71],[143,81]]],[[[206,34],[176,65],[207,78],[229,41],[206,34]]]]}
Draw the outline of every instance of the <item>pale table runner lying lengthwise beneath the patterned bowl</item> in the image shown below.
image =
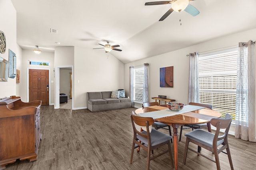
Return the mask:
{"type": "Polygon", "coordinates": [[[140,113],[138,115],[142,117],[152,117],[154,119],[162,118],[162,117],[168,117],[168,116],[174,116],[179,115],[182,113],[187,113],[190,111],[195,111],[199,109],[203,109],[205,107],[202,106],[194,106],[194,105],[185,105],[182,110],[180,111],[172,111],[170,109],[164,109],[164,110],[157,110],[157,111],[150,111],[146,113],[140,113]]]}

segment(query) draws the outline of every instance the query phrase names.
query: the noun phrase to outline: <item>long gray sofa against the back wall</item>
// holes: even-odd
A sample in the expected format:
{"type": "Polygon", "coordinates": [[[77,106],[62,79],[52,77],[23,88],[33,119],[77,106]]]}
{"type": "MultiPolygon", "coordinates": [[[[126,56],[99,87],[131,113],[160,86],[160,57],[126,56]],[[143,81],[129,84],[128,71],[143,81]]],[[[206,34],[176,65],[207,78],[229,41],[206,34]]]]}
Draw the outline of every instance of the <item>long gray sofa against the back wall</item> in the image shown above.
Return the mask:
{"type": "Polygon", "coordinates": [[[132,107],[130,98],[111,98],[109,92],[87,92],[87,109],[92,112],[132,107]]]}

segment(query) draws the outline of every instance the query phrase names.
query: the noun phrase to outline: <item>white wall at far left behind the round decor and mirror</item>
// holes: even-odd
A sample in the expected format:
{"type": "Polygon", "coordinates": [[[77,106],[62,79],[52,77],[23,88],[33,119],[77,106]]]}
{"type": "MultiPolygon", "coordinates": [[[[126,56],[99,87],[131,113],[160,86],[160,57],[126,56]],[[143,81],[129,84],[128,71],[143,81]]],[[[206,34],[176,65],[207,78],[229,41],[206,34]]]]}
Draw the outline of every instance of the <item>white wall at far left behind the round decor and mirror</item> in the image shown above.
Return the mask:
{"type": "MultiPolygon", "coordinates": [[[[16,10],[10,0],[0,0],[0,30],[4,32],[6,37],[6,51],[4,54],[0,53],[0,57],[9,61],[9,49],[15,54],[17,53],[16,43],[16,10]]],[[[19,56],[17,56],[17,61],[19,56]]],[[[0,98],[6,98],[16,95],[16,77],[8,78],[7,82],[1,82],[0,98]]]]}

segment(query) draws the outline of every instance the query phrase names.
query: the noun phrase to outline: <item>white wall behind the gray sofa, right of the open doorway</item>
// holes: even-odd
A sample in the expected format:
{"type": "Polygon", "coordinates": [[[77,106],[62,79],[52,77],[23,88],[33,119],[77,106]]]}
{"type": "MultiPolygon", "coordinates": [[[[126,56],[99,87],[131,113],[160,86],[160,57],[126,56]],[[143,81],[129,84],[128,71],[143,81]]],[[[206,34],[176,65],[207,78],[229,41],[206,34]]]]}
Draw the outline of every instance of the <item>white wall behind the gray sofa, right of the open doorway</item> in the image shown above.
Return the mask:
{"type": "MultiPolygon", "coordinates": [[[[116,51],[113,51],[115,53],[116,51]]],[[[74,107],[86,107],[86,92],[124,88],[124,64],[102,50],[75,47],[74,107]]]]}

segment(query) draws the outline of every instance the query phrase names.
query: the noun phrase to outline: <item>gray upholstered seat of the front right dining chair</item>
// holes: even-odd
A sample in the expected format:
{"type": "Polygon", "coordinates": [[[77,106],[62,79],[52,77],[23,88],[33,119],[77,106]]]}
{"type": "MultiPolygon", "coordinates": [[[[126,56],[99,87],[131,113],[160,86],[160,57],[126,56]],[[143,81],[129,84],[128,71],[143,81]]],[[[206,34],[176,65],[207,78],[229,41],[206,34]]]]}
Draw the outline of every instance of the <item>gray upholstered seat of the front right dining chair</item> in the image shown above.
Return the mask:
{"type": "MultiPolygon", "coordinates": [[[[186,137],[189,137],[190,139],[203,143],[204,145],[208,147],[213,147],[212,141],[214,138],[214,134],[210,133],[208,131],[204,131],[202,129],[195,129],[194,131],[191,131],[187,134],[185,134],[186,137]]],[[[224,139],[217,142],[217,146],[220,146],[224,142],[224,139]]]]}

